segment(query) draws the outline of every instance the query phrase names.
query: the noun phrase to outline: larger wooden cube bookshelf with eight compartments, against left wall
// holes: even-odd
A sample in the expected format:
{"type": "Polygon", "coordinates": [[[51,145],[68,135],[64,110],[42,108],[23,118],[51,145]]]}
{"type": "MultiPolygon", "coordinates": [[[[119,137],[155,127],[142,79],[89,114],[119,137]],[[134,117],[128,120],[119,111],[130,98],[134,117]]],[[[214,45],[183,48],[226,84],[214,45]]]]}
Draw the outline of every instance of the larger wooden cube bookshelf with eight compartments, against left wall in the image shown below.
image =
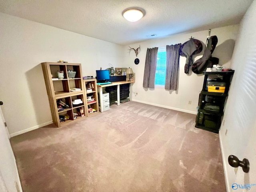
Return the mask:
{"type": "Polygon", "coordinates": [[[41,63],[41,65],[50,102],[53,123],[60,127],[66,123],[73,122],[73,120],[86,117],[87,106],[85,105],[86,99],[84,96],[81,64],[44,62],[41,63]],[[68,76],[68,70],[76,72],[74,78],[68,76]],[[58,79],[58,71],[63,71],[63,78],[58,79]],[[75,91],[72,91],[72,88],[75,91]],[[82,103],[74,105],[72,102],[75,99],[80,99],[82,103]],[[67,106],[58,108],[57,103],[59,100],[64,102],[67,106]],[[84,115],[81,113],[82,108],[84,110],[84,115]],[[62,117],[64,119],[62,119],[62,117]]]}

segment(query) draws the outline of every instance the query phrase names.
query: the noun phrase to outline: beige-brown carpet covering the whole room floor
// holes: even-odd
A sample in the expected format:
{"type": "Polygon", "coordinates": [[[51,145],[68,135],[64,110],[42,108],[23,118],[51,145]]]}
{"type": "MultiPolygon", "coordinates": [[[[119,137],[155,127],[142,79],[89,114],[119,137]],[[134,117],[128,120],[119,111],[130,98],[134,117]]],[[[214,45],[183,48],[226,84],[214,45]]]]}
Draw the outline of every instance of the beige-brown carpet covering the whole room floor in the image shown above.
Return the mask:
{"type": "Polygon", "coordinates": [[[196,116],[127,102],[11,138],[24,192],[223,192],[218,134],[196,116]]]}

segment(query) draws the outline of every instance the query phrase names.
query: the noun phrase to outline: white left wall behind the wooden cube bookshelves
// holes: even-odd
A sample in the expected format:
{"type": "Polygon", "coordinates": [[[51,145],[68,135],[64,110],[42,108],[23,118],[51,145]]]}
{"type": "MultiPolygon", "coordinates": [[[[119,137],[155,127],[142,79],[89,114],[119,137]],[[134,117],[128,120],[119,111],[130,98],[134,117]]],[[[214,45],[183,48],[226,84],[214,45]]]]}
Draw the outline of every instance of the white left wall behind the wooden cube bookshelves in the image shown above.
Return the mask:
{"type": "Polygon", "coordinates": [[[2,13],[0,26],[0,100],[11,136],[52,121],[41,62],[81,63],[83,76],[122,67],[122,46],[2,13]]]}

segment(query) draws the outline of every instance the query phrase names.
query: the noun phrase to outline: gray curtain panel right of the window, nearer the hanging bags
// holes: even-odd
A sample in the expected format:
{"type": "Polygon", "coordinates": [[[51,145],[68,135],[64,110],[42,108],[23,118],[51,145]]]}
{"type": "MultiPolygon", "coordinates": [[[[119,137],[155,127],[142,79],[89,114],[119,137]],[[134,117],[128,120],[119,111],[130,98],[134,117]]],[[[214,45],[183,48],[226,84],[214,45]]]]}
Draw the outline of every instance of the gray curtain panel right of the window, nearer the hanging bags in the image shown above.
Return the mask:
{"type": "Polygon", "coordinates": [[[176,45],[166,45],[166,77],[164,88],[167,90],[177,90],[180,46],[181,43],[176,45]]]}

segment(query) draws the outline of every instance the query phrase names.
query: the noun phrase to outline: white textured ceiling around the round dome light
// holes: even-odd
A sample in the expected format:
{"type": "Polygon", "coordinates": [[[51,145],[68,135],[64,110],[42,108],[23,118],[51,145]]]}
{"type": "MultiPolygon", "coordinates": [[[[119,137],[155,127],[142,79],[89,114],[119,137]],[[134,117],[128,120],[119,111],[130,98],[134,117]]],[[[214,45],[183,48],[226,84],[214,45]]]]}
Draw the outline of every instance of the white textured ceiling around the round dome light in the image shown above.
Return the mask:
{"type": "Polygon", "coordinates": [[[0,0],[0,12],[128,45],[238,24],[253,0],[0,0]],[[146,15],[128,22],[124,9],[140,7],[146,15]],[[152,38],[152,37],[151,37],[152,38]]]}

